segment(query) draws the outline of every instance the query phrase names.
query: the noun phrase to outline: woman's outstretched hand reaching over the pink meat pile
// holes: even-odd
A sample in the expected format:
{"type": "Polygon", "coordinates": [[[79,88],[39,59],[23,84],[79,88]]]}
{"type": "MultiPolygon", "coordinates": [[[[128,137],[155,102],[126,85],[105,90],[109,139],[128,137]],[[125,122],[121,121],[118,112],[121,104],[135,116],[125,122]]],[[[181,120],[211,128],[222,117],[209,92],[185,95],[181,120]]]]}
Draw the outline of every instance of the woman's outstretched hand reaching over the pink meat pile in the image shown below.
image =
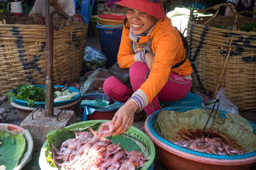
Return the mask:
{"type": "Polygon", "coordinates": [[[135,102],[128,100],[123,106],[121,106],[112,121],[115,122],[115,132],[113,135],[121,135],[126,132],[130,126],[132,126],[134,113],[138,109],[135,102]]]}

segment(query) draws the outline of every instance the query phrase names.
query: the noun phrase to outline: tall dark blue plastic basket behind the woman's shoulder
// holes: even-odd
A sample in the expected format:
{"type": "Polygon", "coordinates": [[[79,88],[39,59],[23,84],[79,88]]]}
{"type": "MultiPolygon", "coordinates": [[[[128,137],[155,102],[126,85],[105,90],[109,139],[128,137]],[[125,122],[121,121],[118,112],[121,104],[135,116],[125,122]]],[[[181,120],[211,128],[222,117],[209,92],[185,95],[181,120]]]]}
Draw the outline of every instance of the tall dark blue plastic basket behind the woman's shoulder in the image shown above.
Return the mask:
{"type": "Polygon", "coordinates": [[[117,53],[119,51],[123,28],[102,28],[98,25],[96,27],[99,31],[101,52],[108,58],[106,65],[112,66],[117,62],[117,53]]]}

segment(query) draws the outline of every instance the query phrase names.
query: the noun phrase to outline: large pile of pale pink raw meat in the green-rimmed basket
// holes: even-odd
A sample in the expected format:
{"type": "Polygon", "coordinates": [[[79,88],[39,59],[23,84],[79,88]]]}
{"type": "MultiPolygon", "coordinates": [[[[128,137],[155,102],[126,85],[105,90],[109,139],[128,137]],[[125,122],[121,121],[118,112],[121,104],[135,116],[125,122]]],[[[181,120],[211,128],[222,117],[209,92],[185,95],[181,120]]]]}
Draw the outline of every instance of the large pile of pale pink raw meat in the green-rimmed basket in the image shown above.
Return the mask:
{"type": "Polygon", "coordinates": [[[91,129],[95,135],[74,132],[76,138],[64,141],[60,150],[52,145],[57,155],[53,156],[54,162],[62,170],[135,170],[146,163],[149,157],[141,152],[128,152],[105,138],[112,133],[113,127],[111,121],[104,122],[99,131],[91,129]]]}

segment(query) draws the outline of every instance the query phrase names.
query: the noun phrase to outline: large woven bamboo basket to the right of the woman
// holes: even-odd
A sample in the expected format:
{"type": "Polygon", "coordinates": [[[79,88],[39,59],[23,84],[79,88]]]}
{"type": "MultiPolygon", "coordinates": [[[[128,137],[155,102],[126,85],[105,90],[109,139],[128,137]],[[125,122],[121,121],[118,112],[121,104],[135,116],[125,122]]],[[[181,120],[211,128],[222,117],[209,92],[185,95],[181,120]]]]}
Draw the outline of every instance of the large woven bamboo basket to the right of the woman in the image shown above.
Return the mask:
{"type": "Polygon", "coordinates": [[[196,17],[188,23],[189,60],[193,67],[193,91],[215,98],[225,88],[227,98],[239,110],[256,110],[256,32],[237,31],[243,23],[256,24],[255,18],[216,17],[221,6],[213,6],[213,17],[196,17]],[[233,26],[232,30],[215,28],[233,26]]]}

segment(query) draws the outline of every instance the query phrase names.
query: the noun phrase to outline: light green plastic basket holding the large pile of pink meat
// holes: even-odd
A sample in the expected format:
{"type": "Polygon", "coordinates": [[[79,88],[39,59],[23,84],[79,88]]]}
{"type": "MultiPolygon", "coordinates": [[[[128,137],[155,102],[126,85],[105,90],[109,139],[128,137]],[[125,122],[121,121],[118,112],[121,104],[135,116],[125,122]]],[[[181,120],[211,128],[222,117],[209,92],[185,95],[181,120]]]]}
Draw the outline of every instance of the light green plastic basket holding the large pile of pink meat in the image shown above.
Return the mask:
{"type": "MultiPolygon", "coordinates": [[[[72,124],[70,126],[67,126],[65,128],[69,130],[74,130],[78,128],[85,128],[88,126],[93,126],[96,123],[103,123],[107,120],[90,120],[90,121],[82,121],[76,124],[72,124]]],[[[147,163],[140,169],[140,170],[153,170],[153,165],[154,165],[154,160],[155,160],[155,146],[153,142],[150,140],[150,138],[141,130],[138,128],[135,128],[134,126],[131,126],[126,132],[124,132],[125,135],[128,137],[132,137],[134,139],[137,139],[141,143],[144,144],[144,146],[147,147],[148,153],[150,156],[150,159],[147,161],[147,163]]],[[[40,158],[39,158],[39,165],[40,168],[43,169],[52,169],[52,170],[57,170],[57,168],[52,168],[48,165],[45,157],[45,148],[47,147],[47,140],[43,144],[43,147],[40,152],[40,158]]],[[[125,148],[126,149],[126,148],[125,148]]],[[[144,153],[143,153],[144,154],[144,153]]]]}

